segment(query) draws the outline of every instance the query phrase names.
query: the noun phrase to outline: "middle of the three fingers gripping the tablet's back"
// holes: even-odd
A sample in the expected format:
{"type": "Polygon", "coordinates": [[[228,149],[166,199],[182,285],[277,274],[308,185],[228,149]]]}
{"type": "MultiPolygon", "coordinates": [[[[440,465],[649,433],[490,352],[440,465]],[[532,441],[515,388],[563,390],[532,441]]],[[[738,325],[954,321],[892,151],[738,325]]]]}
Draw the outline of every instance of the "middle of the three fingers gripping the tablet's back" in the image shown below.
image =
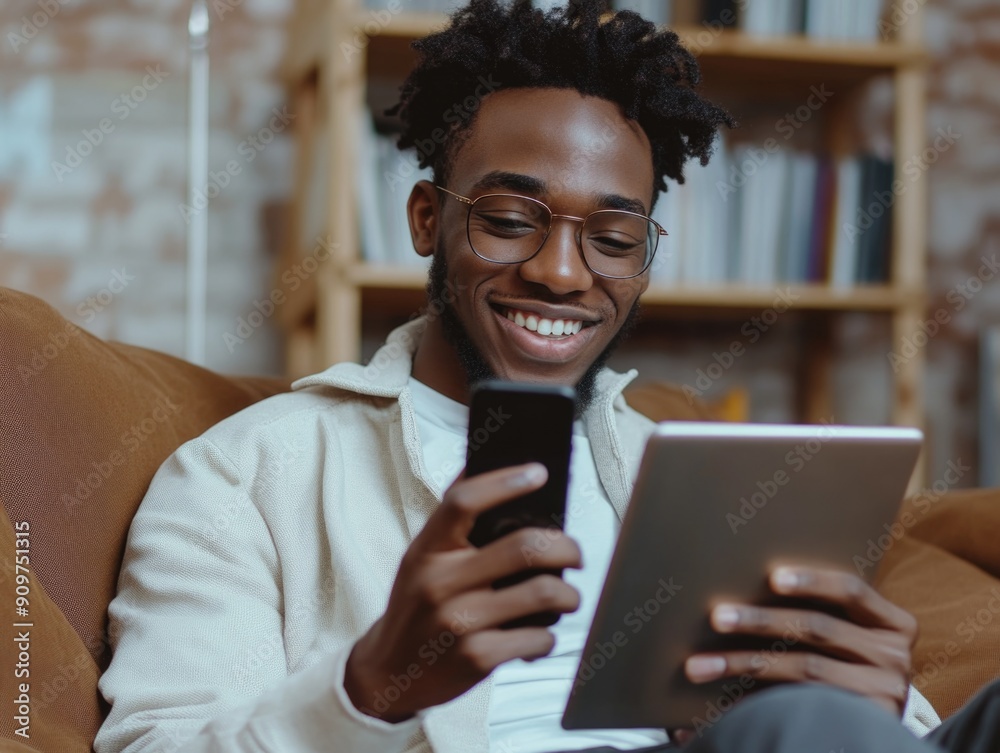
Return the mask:
{"type": "Polygon", "coordinates": [[[899,633],[859,627],[815,610],[719,604],[711,622],[720,633],[775,638],[772,652],[802,644],[846,661],[909,670],[909,643],[899,633]]]}

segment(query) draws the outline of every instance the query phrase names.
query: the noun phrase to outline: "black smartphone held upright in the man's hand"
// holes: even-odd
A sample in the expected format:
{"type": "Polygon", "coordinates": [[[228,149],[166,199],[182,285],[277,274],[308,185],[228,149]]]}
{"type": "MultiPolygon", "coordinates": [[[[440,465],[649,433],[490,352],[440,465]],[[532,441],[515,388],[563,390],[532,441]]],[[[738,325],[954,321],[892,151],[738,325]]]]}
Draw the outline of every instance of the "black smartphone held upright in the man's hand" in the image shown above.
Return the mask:
{"type": "MultiPolygon", "coordinates": [[[[486,546],[519,528],[562,529],[569,490],[576,392],[571,387],[489,380],[472,391],[466,476],[538,462],[549,472],[541,489],[505,502],[480,515],[469,534],[474,546],[486,546]]],[[[505,588],[540,573],[562,576],[562,570],[525,569],[493,584],[505,588]]],[[[559,619],[542,612],[502,627],[548,626],[559,619]]]]}

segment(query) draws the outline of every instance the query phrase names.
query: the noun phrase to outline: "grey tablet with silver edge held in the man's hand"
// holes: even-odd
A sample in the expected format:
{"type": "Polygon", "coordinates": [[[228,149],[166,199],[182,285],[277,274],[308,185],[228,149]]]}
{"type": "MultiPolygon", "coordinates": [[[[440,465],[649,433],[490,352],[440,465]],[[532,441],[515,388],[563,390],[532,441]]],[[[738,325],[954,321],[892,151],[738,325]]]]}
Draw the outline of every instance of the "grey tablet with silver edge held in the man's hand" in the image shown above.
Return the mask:
{"type": "Polygon", "coordinates": [[[767,573],[785,563],[870,577],[897,538],[892,524],[922,442],[904,428],[659,424],[563,727],[700,729],[760,687],[749,675],[695,685],[684,661],[725,648],[771,661],[795,650],[795,626],[781,640],[721,636],[711,608],[781,603],[767,573]]]}

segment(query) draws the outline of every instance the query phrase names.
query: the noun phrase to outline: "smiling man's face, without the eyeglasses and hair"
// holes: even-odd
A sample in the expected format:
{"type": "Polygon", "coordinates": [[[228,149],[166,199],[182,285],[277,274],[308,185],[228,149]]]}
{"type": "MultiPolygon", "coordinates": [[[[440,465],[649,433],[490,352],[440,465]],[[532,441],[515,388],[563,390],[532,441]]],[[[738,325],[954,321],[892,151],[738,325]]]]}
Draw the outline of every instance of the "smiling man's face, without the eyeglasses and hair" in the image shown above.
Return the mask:
{"type": "MultiPolygon", "coordinates": [[[[513,89],[483,102],[447,188],[471,199],[530,196],[555,214],[586,217],[610,208],[648,215],[652,185],[649,140],[617,105],[574,90],[513,89]]],[[[595,275],[580,252],[581,224],[559,218],[528,261],[485,261],[469,246],[468,205],[443,192],[437,201],[432,295],[442,275],[461,291],[443,331],[460,354],[467,351],[460,359],[467,372],[480,361],[479,373],[469,376],[488,370],[502,379],[578,384],[634,313],[648,272],[629,280],[595,275]],[[543,335],[519,324],[531,316],[561,320],[571,334],[543,335]]]]}

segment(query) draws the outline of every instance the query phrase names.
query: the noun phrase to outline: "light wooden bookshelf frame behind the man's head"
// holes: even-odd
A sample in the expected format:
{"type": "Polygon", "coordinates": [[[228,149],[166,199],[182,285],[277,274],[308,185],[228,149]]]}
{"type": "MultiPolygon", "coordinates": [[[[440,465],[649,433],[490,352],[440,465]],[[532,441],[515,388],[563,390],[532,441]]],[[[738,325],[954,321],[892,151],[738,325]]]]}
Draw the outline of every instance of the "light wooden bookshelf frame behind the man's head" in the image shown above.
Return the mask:
{"type": "MultiPolygon", "coordinates": [[[[852,95],[876,77],[889,77],[894,90],[893,157],[899,166],[926,146],[928,58],[921,43],[921,21],[918,9],[894,39],[874,43],[817,41],[802,35],[755,37],[706,26],[674,28],[696,51],[708,96],[723,104],[725,98],[715,96],[713,88],[750,92],[765,106],[800,99],[817,82],[842,93],[821,113],[824,145],[832,151],[844,148],[840,134],[857,117],[852,95]]],[[[367,317],[405,317],[424,300],[422,268],[374,265],[362,258],[354,154],[361,138],[361,113],[390,104],[394,87],[413,64],[409,43],[445,23],[441,14],[366,10],[359,0],[298,3],[283,71],[300,115],[297,179],[276,285],[285,287],[282,273],[310,253],[316,237],[325,235],[337,246],[280,309],[291,376],[356,360],[367,317]]],[[[812,317],[812,331],[820,333],[803,343],[808,357],[797,377],[802,392],[800,420],[817,421],[832,414],[831,317],[843,312],[890,317],[892,343],[917,330],[925,309],[926,201],[925,181],[908,185],[895,199],[891,277],[885,284],[780,283],[798,296],[795,310],[812,317]]],[[[738,319],[770,306],[775,287],[654,283],[643,304],[647,318],[654,321],[675,316],[738,319]]],[[[921,354],[892,374],[894,423],[923,425],[922,374],[921,354]]]]}

